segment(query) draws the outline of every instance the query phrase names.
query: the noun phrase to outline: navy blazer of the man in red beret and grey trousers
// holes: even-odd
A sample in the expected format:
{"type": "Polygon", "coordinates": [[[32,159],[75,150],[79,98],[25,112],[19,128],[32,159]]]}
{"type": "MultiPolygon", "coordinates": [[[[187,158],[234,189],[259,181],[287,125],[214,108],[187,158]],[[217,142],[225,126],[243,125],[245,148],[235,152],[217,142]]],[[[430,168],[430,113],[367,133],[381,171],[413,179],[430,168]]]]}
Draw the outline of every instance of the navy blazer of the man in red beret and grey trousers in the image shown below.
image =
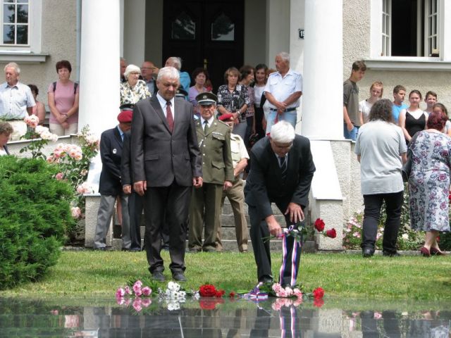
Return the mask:
{"type": "Polygon", "coordinates": [[[123,142],[118,127],[105,130],[100,137],[101,174],[99,193],[117,195],[122,191],[121,157],[123,142]]]}

